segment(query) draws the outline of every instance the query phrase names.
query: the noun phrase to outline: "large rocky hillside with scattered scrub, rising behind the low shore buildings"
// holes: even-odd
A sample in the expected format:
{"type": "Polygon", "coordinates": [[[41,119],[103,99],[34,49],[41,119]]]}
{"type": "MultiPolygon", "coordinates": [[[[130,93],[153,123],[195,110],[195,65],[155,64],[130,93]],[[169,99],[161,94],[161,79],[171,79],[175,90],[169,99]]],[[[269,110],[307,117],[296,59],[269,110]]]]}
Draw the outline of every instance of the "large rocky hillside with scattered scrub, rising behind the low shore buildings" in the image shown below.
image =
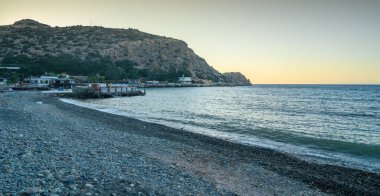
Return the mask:
{"type": "Polygon", "coordinates": [[[100,74],[107,79],[233,83],[196,55],[184,41],[136,29],[97,26],[50,27],[25,19],[0,26],[0,62],[16,64],[28,72],[100,74]]]}

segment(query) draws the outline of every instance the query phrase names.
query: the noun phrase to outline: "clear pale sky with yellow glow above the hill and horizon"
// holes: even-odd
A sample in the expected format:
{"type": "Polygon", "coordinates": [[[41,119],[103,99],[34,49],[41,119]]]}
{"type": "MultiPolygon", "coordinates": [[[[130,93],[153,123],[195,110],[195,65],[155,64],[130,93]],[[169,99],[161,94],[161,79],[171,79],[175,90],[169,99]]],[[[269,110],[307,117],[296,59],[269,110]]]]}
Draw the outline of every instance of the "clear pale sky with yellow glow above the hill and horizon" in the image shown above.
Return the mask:
{"type": "Polygon", "coordinates": [[[379,0],[0,0],[0,25],[136,28],[256,84],[380,84],[379,0]]]}

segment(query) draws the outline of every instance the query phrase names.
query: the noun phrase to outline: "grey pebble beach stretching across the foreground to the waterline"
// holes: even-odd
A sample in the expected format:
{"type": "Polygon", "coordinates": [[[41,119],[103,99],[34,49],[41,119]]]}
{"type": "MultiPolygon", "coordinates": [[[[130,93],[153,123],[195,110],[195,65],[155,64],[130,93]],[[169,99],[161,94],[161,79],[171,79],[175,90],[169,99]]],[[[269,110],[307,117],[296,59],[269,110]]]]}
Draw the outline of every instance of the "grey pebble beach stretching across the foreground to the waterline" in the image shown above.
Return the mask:
{"type": "Polygon", "coordinates": [[[380,195],[380,174],[0,93],[0,195],[380,195]]]}

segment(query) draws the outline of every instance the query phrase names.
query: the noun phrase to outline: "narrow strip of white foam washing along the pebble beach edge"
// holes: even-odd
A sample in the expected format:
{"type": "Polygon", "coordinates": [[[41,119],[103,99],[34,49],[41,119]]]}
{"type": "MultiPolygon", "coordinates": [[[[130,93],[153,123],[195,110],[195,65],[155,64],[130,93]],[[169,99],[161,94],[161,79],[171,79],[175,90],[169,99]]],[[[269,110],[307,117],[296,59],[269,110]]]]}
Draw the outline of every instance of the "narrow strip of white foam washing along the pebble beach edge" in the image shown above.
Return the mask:
{"type": "Polygon", "coordinates": [[[271,141],[268,139],[257,138],[251,135],[247,136],[247,135],[239,134],[239,133],[221,132],[221,131],[217,131],[213,129],[196,127],[193,125],[170,122],[166,120],[158,120],[158,119],[150,118],[149,116],[130,114],[114,107],[86,103],[86,102],[82,102],[82,101],[78,101],[74,99],[65,98],[65,99],[60,99],[60,100],[62,102],[73,104],[79,107],[93,109],[93,110],[115,114],[119,116],[135,118],[144,122],[157,123],[157,124],[165,125],[165,126],[176,128],[176,129],[181,129],[184,131],[189,131],[189,132],[193,132],[197,134],[206,135],[209,137],[214,137],[214,138],[230,141],[233,143],[269,148],[269,149],[273,149],[273,150],[283,152],[286,154],[295,155],[306,161],[313,161],[313,162],[322,163],[322,164],[334,164],[334,165],[340,165],[340,166],[357,168],[357,169],[380,173],[380,163],[378,163],[376,160],[364,161],[363,159],[352,157],[343,153],[328,152],[328,151],[323,151],[319,149],[310,149],[304,146],[285,144],[281,142],[271,141]]]}

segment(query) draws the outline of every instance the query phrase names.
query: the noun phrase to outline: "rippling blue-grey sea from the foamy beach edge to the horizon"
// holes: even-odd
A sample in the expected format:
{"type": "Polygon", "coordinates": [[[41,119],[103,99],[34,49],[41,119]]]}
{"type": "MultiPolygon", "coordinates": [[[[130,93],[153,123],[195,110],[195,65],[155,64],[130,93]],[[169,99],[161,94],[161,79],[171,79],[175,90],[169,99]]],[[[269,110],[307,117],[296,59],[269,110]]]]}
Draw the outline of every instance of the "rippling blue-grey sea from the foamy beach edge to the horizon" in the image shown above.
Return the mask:
{"type": "Polygon", "coordinates": [[[380,172],[379,85],[152,88],[145,96],[62,100],[307,161],[380,172]]]}

